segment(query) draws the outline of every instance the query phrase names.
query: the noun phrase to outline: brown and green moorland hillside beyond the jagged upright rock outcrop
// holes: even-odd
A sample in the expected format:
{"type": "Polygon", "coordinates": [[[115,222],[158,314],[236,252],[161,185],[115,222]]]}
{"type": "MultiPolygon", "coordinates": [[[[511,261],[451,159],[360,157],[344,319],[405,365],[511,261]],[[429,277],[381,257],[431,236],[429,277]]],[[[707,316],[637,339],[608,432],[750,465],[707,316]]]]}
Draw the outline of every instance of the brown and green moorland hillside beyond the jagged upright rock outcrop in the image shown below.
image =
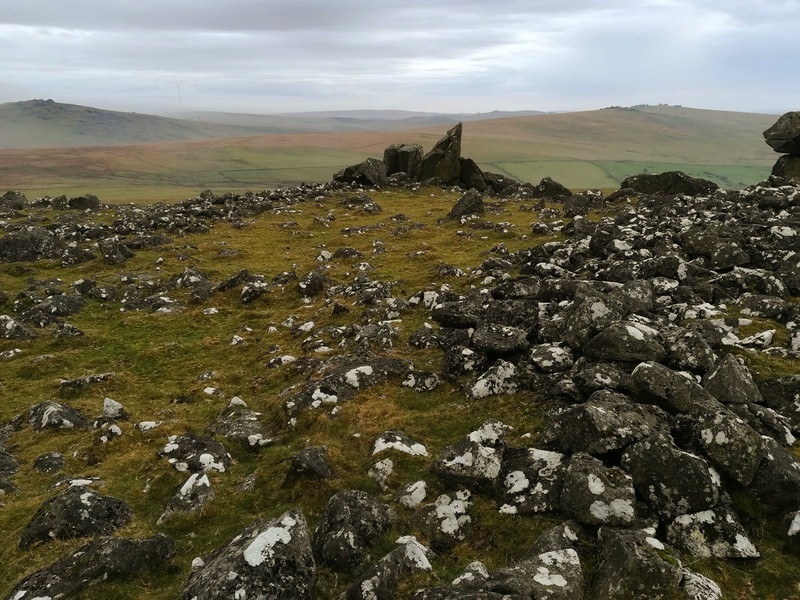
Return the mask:
{"type": "MultiPolygon", "coordinates": [[[[464,155],[488,171],[534,183],[549,176],[572,188],[614,188],[627,176],[666,170],[741,188],[769,174],[775,158],[761,132],[774,121],[773,115],[679,107],[478,120],[465,125],[464,155]]],[[[258,190],[327,181],[347,165],[381,157],[396,142],[430,149],[451,124],[96,146],[68,153],[7,150],[0,151],[0,180],[32,196],[93,190],[110,202],[175,198],[205,188],[258,190]]],[[[229,126],[234,124],[216,125],[229,126]]]]}

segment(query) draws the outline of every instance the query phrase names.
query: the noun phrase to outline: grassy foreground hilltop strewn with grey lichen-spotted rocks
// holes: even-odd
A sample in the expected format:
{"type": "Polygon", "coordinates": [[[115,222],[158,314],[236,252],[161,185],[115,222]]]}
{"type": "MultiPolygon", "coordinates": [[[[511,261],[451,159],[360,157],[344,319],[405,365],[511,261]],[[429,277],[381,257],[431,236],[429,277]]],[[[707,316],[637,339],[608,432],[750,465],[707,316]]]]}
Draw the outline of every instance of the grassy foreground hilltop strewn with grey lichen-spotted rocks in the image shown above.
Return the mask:
{"type": "Polygon", "coordinates": [[[0,597],[796,597],[798,186],[518,187],[4,195],[0,597]]]}

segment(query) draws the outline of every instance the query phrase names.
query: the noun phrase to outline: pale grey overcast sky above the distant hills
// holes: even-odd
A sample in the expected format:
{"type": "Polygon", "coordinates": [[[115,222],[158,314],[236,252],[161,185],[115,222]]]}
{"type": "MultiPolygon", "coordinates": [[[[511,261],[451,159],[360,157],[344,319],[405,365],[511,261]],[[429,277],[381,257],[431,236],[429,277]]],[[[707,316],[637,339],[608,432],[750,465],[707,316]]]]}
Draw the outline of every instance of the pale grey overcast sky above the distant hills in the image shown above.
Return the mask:
{"type": "Polygon", "coordinates": [[[0,102],[782,112],[798,32],[800,0],[0,0],[0,102]]]}

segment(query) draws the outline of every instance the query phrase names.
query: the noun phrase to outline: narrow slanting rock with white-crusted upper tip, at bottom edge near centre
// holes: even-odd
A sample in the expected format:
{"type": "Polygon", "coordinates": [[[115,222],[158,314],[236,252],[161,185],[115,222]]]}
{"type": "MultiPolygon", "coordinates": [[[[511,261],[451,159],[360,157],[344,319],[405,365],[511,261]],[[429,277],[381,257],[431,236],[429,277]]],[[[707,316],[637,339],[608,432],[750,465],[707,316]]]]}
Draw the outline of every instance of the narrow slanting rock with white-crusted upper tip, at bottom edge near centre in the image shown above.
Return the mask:
{"type": "Polygon", "coordinates": [[[428,549],[412,536],[397,540],[398,547],[371,565],[347,589],[347,600],[392,600],[404,575],[430,571],[428,549]]]}

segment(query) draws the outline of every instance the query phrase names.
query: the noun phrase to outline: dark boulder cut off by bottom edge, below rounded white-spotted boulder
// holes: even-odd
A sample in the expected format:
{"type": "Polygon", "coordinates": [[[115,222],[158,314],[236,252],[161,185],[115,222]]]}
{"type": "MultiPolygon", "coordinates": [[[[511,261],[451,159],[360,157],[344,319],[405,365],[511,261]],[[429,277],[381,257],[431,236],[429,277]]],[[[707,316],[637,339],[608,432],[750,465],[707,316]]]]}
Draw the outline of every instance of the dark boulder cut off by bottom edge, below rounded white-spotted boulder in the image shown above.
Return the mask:
{"type": "Polygon", "coordinates": [[[602,528],[599,537],[603,551],[592,588],[593,597],[677,597],[683,573],[653,533],[602,528]]]}

